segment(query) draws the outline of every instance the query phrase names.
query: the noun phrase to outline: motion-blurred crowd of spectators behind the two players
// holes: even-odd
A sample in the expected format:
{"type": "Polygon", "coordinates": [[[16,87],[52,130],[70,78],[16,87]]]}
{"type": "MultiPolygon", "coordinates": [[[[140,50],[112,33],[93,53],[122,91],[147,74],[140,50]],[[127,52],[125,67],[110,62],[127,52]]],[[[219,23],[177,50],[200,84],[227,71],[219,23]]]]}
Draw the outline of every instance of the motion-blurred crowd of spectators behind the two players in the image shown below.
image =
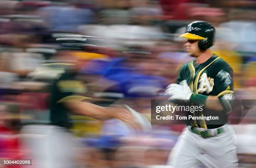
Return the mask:
{"type": "MultiPolygon", "coordinates": [[[[51,84],[81,60],[94,104],[128,104],[144,120],[138,131],[119,120],[72,115],[79,167],[164,167],[184,125],[148,123],[151,99],[165,98],[179,67],[193,59],[178,35],[195,20],[215,25],[211,50],[233,68],[236,99],[255,99],[255,9],[255,0],[0,0],[0,159],[32,155],[23,127],[49,124],[51,84]]],[[[250,116],[250,125],[234,125],[244,168],[256,167],[250,116]]]]}

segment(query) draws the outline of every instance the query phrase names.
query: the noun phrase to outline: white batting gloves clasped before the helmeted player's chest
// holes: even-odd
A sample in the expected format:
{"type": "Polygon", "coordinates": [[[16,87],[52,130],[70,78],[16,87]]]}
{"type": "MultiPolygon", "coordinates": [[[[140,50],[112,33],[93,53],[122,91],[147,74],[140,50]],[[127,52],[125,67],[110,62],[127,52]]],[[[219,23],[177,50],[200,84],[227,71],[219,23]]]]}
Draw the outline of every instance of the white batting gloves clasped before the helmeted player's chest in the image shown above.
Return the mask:
{"type": "Polygon", "coordinates": [[[170,84],[164,92],[164,96],[168,96],[169,100],[189,100],[191,95],[192,91],[186,80],[181,81],[179,84],[170,84]]]}

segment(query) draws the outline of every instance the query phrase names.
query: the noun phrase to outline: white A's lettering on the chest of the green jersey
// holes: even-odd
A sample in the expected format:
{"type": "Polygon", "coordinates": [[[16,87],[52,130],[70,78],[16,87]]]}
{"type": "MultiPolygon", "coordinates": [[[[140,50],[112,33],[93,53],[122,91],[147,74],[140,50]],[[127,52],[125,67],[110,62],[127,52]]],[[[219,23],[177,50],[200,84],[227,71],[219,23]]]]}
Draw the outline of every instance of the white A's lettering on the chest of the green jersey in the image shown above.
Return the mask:
{"type": "Polygon", "coordinates": [[[206,92],[207,94],[212,92],[213,86],[214,86],[214,79],[207,77],[206,73],[203,73],[200,77],[199,87],[198,87],[198,93],[206,92]]]}

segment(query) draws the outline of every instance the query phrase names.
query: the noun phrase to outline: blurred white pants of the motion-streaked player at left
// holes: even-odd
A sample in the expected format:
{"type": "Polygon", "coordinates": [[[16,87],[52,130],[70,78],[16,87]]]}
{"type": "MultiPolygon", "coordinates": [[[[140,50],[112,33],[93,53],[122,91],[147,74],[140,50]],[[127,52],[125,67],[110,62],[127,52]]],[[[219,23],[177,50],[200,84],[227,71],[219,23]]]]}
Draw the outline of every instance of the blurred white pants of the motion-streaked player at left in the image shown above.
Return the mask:
{"type": "Polygon", "coordinates": [[[23,159],[32,159],[24,168],[76,168],[79,143],[66,128],[53,125],[28,125],[21,130],[23,159]]]}

